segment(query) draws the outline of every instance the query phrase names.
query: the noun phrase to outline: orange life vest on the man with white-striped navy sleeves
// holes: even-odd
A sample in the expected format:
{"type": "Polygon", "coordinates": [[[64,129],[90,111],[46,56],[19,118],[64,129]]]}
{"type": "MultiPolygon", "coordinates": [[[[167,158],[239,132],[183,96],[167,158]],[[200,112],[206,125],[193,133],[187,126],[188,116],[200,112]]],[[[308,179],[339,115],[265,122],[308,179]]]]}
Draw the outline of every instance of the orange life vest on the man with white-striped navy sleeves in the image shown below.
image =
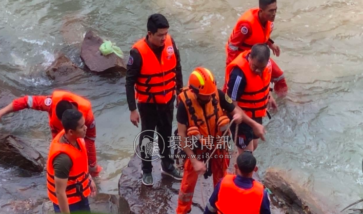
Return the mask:
{"type": "Polygon", "coordinates": [[[247,82],[242,96],[237,98],[238,106],[244,110],[250,118],[260,118],[266,116],[267,112],[271,81],[271,63],[269,61],[265,70],[261,73],[261,76],[256,75],[251,71],[247,61],[250,52],[251,50],[240,53],[236,59],[227,66],[226,83],[228,85],[229,76],[233,68],[238,66],[244,72],[247,82]]]}

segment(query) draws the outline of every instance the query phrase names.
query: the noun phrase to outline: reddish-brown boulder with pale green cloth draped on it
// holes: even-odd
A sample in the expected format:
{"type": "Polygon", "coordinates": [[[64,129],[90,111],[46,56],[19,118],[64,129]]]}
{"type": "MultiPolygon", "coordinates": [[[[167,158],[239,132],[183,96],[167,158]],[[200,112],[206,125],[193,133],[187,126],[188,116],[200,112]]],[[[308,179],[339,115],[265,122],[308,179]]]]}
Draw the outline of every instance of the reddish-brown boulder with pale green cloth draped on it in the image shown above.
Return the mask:
{"type": "Polygon", "coordinates": [[[102,45],[103,40],[91,30],[87,31],[82,49],[80,50],[80,57],[90,71],[93,72],[126,72],[124,61],[115,53],[102,55],[99,51],[99,46],[102,45]]]}

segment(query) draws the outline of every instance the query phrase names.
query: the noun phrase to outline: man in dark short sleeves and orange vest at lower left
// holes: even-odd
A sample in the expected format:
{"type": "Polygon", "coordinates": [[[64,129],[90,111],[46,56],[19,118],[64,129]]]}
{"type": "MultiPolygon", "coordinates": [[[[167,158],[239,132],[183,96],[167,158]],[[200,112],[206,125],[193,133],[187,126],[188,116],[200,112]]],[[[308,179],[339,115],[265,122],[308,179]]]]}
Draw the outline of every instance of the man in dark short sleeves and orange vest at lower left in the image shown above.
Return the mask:
{"type": "Polygon", "coordinates": [[[55,212],[90,211],[88,197],[96,185],[88,173],[83,113],[68,109],[62,116],[64,129],[50,144],[47,161],[48,197],[55,212]]]}

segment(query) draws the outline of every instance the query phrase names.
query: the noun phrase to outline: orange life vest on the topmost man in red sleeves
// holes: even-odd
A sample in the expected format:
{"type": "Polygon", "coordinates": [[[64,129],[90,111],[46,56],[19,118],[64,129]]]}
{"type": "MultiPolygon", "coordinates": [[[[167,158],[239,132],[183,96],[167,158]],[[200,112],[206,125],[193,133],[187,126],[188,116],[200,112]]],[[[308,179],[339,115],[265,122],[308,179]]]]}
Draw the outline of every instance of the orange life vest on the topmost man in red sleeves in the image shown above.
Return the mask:
{"type": "Polygon", "coordinates": [[[258,11],[259,8],[249,9],[239,17],[237,24],[234,26],[232,34],[229,37],[226,48],[228,48],[233,34],[242,30],[240,26],[243,23],[249,23],[251,26],[251,35],[244,41],[243,44],[241,44],[241,46],[238,47],[238,51],[243,52],[245,50],[250,50],[252,46],[257,43],[267,43],[273,29],[273,23],[267,21],[266,28],[263,27],[258,18],[258,11]]]}

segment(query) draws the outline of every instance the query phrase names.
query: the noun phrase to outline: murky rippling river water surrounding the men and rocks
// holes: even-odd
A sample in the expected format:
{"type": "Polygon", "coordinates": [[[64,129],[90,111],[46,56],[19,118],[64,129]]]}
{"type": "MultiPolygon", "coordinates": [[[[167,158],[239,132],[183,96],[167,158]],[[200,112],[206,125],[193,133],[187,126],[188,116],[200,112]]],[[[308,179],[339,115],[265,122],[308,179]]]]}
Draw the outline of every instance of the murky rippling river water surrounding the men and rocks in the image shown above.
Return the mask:
{"type": "MultiPolygon", "coordinates": [[[[184,82],[194,67],[205,66],[221,87],[225,43],[238,16],[257,6],[257,0],[0,0],[0,4],[0,107],[18,96],[49,94],[54,88],[91,100],[98,162],[104,168],[97,185],[100,192],[117,194],[117,181],[140,131],[129,121],[125,78],[84,73],[54,84],[44,68],[58,51],[82,66],[78,54],[87,29],[115,42],[127,61],[132,44],[146,33],[148,15],[160,12],[168,18],[179,48],[184,82]]],[[[264,176],[268,167],[291,170],[300,185],[332,210],[363,197],[362,9],[361,1],[279,0],[272,34],[281,48],[274,59],[285,70],[289,94],[277,100],[279,112],[265,121],[267,141],[255,152],[260,174],[264,176]]],[[[27,139],[47,157],[51,139],[46,113],[9,114],[0,130],[27,139]]],[[[11,191],[15,183],[37,183],[37,191],[44,190],[45,195],[42,176],[23,178],[16,168],[0,170],[0,204],[17,198],[11,191]]]]}

